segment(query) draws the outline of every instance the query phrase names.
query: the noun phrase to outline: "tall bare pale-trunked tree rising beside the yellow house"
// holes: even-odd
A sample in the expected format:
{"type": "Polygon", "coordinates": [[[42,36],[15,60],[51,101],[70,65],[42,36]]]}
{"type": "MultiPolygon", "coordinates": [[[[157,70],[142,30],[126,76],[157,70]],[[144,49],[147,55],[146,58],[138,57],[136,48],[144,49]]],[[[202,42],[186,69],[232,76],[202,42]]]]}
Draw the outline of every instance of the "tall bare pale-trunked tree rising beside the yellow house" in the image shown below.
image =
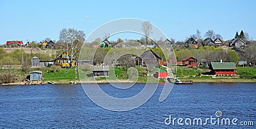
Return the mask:
{"type": "Polygon", "coordinates": [[[70,63],[72,64],[72,58],[81,50],[85,34],[83,31],[77,31],[74,28],[62,29],[59,38],[61,43],[67,45],[67,53],[71,56],[70,63]]]}

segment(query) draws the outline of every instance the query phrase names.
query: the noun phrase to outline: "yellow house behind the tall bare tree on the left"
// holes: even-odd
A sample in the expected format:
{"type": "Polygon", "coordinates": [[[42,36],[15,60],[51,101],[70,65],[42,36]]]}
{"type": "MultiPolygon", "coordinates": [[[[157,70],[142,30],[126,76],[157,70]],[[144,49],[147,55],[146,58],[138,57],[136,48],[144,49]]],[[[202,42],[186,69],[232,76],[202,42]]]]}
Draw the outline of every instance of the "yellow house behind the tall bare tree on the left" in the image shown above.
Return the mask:
{"type": "Polygon", "coordinates": [[[68,68],[70,66],[76,66],[76,59],[73,57],[72,64],[70,62],[70,56],[68,56],[67,52],[62,52],[60,56],[56,57],[54,65],[61,66],[62,68],[68,68]]]}

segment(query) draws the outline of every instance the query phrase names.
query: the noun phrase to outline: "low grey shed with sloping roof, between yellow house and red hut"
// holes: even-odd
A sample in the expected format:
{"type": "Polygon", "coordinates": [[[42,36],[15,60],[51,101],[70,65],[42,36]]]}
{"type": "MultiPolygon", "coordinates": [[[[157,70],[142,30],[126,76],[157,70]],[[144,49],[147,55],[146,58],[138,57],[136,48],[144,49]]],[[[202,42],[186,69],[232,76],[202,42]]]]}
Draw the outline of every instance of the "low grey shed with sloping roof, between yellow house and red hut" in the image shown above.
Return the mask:
{"type": "Polygon", "coordinates": [[[92,66],[93,77],[109,77],[109,66],[92,66]]]}

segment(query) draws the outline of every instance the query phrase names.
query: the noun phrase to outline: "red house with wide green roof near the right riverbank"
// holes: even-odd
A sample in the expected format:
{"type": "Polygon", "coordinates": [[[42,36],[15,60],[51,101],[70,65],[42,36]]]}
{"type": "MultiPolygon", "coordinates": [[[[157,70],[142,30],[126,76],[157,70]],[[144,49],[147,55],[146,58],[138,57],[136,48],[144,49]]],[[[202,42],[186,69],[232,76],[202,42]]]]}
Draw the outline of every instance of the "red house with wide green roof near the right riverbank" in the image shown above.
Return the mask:
{"type": "Polygon", "coordinates": [[[236,75],[236,65],[232,62],[212,62],[209,69],[214,75],[236,75]]]}

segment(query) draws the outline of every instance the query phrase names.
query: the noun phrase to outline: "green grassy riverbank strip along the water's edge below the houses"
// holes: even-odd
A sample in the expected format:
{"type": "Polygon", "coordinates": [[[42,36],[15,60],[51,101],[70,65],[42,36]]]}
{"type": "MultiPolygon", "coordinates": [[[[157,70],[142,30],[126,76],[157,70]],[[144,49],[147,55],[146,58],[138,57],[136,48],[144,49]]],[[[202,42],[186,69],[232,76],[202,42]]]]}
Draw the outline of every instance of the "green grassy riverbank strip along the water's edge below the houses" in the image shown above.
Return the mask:
{"type": "MultiPolygon", "coordinates": [[[[144,67],[136,67],[138,70],[138,79],[137,82],[162,82],[163,80],[156,79],[152,76],[147,77],[147,70],[144,67]]],[[[80,82],[79,74],[77,72],[76,79],[76,70],[75,68],[61,68],[59,72],[51,72],[50,68],[33,68],[32,70],[42,70],[44,82],[48,81],[55,82],[56,84],[69,84],[70,81],[75,80],[76,82],[80,82]]],[[[110,68],[110,73],[115,72],[114,74],[110,74],[109,77],[100,77],[97,78],[97,82],[106,83],[106,82],[116,82],[116,78],[121,80],[121,82],[134,82],[129,80],[129,69],[125,68],[110,68]]],[[[181,80],[193,80],[193,82],[256,82],[256,68],[252,67],[237,67],[237,75],[236,76],[214,76],[204,75],[204,73],[209,72],[208,69],[199,68],[198,70],[195,68],[186,68],[186,67],[177,67],[177,78],[181,80]]],[[[9,84],[20,84],[22,80],[29,75],[29,73],[22,72],[21,69],[1,69],[0,73],[11,73],[13,77],[15,77],[14,81],[9,84]]],[[[132,73],[136,74],[136,73],[132,73]]],[[[95,79],[92,77],[92,72],[82,72],[80,75],[83,80],[83,83],[93,83],[95,79]]],[[[130,74],[131,76],[131,74],[130,74]]],[[[136,79],[136,78],[134,78],[136,79]]]]}

